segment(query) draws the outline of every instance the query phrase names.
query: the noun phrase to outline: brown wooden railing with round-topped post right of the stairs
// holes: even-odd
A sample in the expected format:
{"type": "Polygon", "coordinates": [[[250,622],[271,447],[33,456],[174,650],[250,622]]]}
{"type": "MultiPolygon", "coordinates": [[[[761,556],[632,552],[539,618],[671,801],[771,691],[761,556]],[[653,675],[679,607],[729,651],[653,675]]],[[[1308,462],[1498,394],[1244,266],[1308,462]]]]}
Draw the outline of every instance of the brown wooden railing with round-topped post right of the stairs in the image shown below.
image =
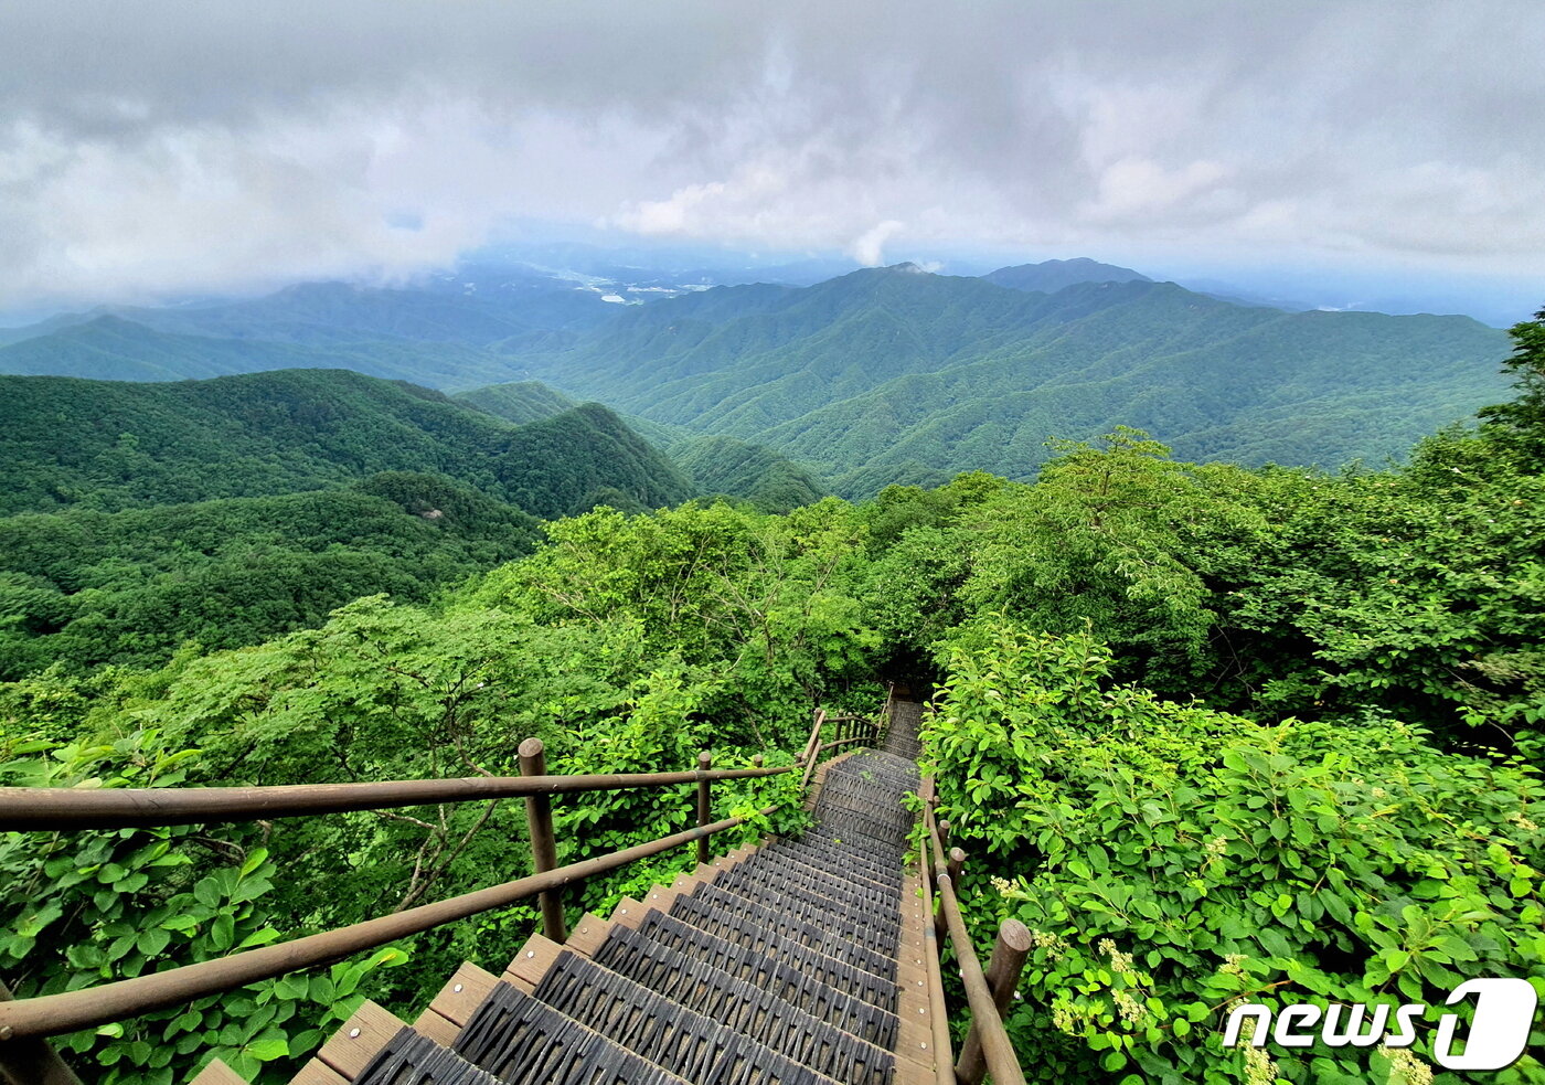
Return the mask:
{"type": "Polygon", "coordinates": [[[976,949],[972,946],[966,917],[961,915],[955,884],[966,864],[966,853],[949,845],[949,822],[935,819],[938,793],[933,777],[925,776],[918,796],[922,799],[922,849],[918,855],[918,872],[922,879],[922,904],[925,915],[933,915],[933,924],[924,924],[924,947],[927,949],[929,1000],[933,1003],[933,1049],[938,1085],[981,1085],[984,1074],[992,1074],[993,1085],[1024,1085],[1014,1043],[1003,1026],[1003,1012],[1020,985],[1020,972],[1031,951],[1031,932],[1018,920],[1006,920],[998,927],[998,940],[986,972],[976,949]],[[938,912],[935,913],[935,903],[938,912]],[[959,1060],[952,1066],[950,1034],[944,1028],[949,1008],[944,1003],[944,980],[939,951],[946,937],[955,949],[959,963],[966,1002],[970,1006],[970,1031],[961,1045],[959,1060]]]}

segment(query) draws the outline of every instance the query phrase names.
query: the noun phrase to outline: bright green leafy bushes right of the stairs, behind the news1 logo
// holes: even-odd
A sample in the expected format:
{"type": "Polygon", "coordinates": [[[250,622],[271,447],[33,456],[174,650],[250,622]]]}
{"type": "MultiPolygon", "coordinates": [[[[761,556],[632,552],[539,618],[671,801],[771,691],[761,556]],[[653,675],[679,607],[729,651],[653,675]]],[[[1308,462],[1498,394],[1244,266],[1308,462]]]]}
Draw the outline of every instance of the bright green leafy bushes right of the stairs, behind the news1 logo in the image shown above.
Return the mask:
{"type": "MultiPolygon", "coordinates": [[[[1233,1082],[1247,1059],[1221,1026],[1239,998],[1441,1006],[1474,975],[1545,988],[1537,773],[1386,719],[1262,728],[1111,685],[1111,663],[1086,635],[1006,620],[941,648],[924,743],[941,816],[990,856],[964,907],[980,930],[1014,915],[1034,932],[1009,1022],[1027,1063],[1068,1082],[1233,1082]]],[[[1375,1079],[1358,1048],[1272,1057],[1284,1080],[1375,1079]]],[[[1497,1080],[1545,1068],[1525,1056],[1497,1080]]]]}

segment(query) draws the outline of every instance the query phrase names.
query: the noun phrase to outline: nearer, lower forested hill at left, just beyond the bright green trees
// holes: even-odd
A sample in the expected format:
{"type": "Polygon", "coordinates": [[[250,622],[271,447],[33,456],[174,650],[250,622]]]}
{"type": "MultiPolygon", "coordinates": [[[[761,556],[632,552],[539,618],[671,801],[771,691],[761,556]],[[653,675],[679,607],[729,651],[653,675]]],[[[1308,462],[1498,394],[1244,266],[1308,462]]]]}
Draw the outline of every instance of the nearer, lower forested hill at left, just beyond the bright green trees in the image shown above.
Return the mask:
{"type": "Polygon", "coordinates": [[[252,645],[536,544],[518,508],[433,474],[348,490],[0,519],[0,679],[49,663],[154,665],[184,641],[252,645]]]}

